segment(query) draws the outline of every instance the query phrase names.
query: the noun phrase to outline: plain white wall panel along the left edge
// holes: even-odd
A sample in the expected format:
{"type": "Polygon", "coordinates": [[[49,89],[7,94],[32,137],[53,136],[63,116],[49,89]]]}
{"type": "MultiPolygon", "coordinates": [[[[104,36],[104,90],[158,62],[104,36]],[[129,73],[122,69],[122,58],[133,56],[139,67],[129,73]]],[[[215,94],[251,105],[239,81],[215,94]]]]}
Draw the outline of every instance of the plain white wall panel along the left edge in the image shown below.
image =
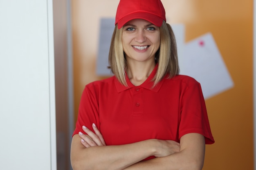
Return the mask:
{"type": "Polygon", "coordinates": [[[0,0],[0,170],[56,170],[52,0],[0,0]]]}

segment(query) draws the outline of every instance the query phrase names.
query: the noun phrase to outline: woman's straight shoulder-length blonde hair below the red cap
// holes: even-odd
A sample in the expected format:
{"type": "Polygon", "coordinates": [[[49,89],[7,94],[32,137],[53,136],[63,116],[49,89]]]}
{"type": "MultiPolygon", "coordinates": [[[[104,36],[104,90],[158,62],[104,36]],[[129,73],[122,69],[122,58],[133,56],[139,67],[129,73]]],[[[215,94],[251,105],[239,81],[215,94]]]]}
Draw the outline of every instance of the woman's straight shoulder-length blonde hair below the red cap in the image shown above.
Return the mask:
{"type": "MultiPolygon", "coordinates": [[[[155,87],[166,74],[168,74],[168,78],[172,78],[180,72],[177,46],[173,30],[170,24],[167,24],[165,21],[163,21],[162,26],[159,28],[160,48],[155,54],[155,62],[158,63],[158,68],[157,73],[153,78],[153,87],[155,87]]],[[[127,86],[125,73],[127,70],[127,63],[122,46],[122,32],[123,27],[118,29],[116,25],[111,39],[108,61],[111,72],[115,74],[121,84],[127,86]]]]}

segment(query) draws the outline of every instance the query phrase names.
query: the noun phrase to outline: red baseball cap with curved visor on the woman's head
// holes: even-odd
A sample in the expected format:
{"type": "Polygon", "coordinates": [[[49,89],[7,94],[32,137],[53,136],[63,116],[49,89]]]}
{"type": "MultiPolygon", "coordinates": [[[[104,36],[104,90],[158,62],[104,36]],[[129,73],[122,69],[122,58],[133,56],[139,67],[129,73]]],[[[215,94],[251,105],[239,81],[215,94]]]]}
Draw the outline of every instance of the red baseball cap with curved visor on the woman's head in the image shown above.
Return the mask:
{"type": "Polygon", "coordinates": [[[160,27],[163,20],[166,21],[161,0],[120,0],[115,22],[118,29],[126,22],[138,18],[160,27]]]}

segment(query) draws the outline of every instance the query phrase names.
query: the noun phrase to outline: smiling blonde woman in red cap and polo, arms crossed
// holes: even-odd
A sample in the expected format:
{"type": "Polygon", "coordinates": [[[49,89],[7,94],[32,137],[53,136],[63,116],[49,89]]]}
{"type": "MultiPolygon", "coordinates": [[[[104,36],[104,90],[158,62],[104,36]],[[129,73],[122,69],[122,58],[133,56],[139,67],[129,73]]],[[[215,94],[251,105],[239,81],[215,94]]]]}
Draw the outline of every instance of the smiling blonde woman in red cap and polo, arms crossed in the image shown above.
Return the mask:
{"type": "Polygon", "coordinates": [[[71,163],[84,169],[200,170],[213,144],[200,84],[178,75],[175,37],[160,0],[120,0],[109,63],[85,86],[71,163]]]}

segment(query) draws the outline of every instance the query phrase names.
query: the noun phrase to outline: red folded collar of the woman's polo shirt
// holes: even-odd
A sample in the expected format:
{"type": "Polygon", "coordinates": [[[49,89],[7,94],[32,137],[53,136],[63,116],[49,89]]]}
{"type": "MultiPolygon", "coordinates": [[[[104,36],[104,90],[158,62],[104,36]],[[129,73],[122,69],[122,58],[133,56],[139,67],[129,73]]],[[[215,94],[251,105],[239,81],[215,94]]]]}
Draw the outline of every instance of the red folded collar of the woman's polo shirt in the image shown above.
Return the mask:
{"type": "MultiPolygon", "coordinates": [[[[154,88],[152,88],[152,87],[153,87],[153,84],[154,84],[154,81],[152,81],[152,79],[154,78],[154,76],[155,76],[155,74],[156,74],[156,72],[157,72],[157,68],[158,68],[158,64],[156,64],[154,70],[150,73],[150,75],[148,76],[148,78],[146,79],[146,81],[144,81],[144,83],[142,83],[141,85],[139,85],[139,86],[137,86],[137,87],[143,87],[143,88],[148,89],[148,90],[151,90],[151,91],[153,91],[153,92],[158,92],[159,89],[161,88],[161,86],[162,86],[164,80],[161,80],[159,83],[157,83],[157,85],[156,85],[154,88]]],[[[135,87],[135,85],[133,85],[133,84],[130,82],[130,80],[129,80],[127,74],[126,74],[126,82],[127,82],[128,87],[122,85],[122,84],[117,80],[117,78],[115,78],[115,86],[116,86],[116,89],[117,89],[117,92],[118,92],[118,93],[123,92],[123,91],[125,91],[125,90],[127,90],[127,89],[130,89],[130,88],[132,88],[132,87],[135,87]]]]}

